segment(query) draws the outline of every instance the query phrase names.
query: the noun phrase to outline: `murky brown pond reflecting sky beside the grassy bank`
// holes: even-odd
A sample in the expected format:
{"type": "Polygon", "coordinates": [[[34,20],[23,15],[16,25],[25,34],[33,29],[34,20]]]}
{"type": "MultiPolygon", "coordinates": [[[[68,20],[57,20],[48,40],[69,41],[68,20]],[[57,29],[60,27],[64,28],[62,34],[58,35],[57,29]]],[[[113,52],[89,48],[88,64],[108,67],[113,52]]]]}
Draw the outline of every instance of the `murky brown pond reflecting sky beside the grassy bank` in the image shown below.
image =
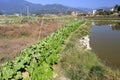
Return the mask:
{"type": "Polygon", "coordinates": [[[92,22],[90,46],[108,66],[120,69],[120,22],[92,22]]]}

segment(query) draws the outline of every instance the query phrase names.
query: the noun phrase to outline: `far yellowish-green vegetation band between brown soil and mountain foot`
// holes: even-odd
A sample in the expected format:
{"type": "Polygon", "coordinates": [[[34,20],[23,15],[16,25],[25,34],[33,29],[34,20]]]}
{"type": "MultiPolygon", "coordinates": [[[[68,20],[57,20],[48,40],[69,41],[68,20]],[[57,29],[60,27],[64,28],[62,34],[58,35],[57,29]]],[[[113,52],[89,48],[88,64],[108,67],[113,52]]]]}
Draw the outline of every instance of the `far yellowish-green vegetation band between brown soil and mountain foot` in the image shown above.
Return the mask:
{"type": "Polygon", "coordinates": [[[73,20],[75,17],[71,16],[59,16],[59,15],[37,15],[37,16],[0,16],[0,25],[16,25],[16,24],[24,24],[24,23],[41,23],[42,20],[44,22],[48,21],[66,21],[73,20]]]}

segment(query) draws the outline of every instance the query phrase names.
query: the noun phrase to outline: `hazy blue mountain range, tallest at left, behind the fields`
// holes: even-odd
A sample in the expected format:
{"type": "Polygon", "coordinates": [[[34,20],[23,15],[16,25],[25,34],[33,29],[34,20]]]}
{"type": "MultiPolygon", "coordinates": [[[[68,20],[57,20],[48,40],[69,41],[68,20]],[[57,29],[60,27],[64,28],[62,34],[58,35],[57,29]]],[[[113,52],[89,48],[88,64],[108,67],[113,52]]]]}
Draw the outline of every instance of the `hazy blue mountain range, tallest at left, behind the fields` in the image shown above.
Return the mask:
{"type": "Polygon", "coordinates": [[[0,0],[0,12],[3,14],[14,14],[27,12],[27,7],[30,13],[38,14],[57,14],[70,13],[72,11],[81,11],[77,8],[71,8],[60,4],[41,5],[28,2],[26,0],[0,0]]]}

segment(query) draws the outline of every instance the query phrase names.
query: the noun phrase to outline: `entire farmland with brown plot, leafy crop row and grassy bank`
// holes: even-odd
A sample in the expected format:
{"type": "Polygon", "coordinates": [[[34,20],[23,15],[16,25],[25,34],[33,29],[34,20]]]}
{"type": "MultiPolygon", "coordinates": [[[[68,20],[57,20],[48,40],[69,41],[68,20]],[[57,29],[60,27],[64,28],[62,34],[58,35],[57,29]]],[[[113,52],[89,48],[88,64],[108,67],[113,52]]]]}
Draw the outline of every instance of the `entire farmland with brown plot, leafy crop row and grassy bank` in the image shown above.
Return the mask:
{"type": "Polygon", "coordinates": [[[1,24],[0,80],[120,79],[119,70],[107,67],[94,52],[80,45],[80,38],[90,33],[88,21],[34,19],[1,24]]]}

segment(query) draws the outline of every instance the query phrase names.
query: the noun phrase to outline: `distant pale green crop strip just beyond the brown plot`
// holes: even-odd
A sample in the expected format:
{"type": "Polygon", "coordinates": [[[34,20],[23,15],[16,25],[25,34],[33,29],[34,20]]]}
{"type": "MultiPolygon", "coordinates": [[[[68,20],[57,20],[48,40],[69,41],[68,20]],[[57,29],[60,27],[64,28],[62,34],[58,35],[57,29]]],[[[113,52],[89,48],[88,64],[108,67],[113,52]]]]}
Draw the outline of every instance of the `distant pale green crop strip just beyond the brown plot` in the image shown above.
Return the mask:
{"type": "Polygon", "coordinates": [[[61,21],[69,20],[75,17],[37,17],[37,16],[11,16],[0,19],[0,24],[23,24],[23,23],[40,23],[44,21],[61,21]]]}

